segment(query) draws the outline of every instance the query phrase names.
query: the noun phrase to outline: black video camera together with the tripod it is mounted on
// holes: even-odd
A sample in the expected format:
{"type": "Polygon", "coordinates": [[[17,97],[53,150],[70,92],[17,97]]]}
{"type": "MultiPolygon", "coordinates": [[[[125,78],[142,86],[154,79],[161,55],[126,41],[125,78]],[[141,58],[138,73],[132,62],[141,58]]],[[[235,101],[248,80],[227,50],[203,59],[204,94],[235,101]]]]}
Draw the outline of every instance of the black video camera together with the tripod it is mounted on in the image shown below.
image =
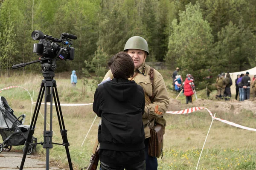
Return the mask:
{"type": "Polygon", "coordinates": [[[42,104],[42,99],[44,96],[44,142],[41,143],[33,143],[33,144],[42,144],[43,148],[46,149],[46,170],[49,170],[49,149],[52,148],[53,144],[62,145],[65,147],[67,153],[67,160],[70,167],[70,170],[73,170],[70,152],[69,152],[69,142],[67,140],[67,130],[64,125],[63,114],[61,111],[61,104],[58,97],[57,85],[56,81],[53,79],[55,77],[55,68],[57,59],[61,60],[73,60],[75,54],[75,48],[70,47],[73,44],[72,40],[76,40],[77,37],[72,34],[62,33],[61,38],[54,38],[49,35],[44,35],[42,31],[35,30],[32,32],[31,37],[33,40],[39,40],[39,43],[34,44],[33,52],[37,55],[41,56],[38,60],[20,63],[17,65],[13,65],[12,69],[25,67],[26,65],[33,64],[36,62],[41,63],[42,74],[44,79],[41,82],[41,87],[38,95],[38,99],[36,101],[35,110],[32,116],[32,120],[29,127],[28,137],[25,142],[24,153],[22,157],[22,161],[20,164],[20,170],[23,170],[23,166],[25,163],[26,155],[29,150],[29,147],[32,145],[32,136],[35,131],[35,123],[38,118],[38,113],[40,111],[40,107],[42,104]],[[70,40],[72,39],[72,40],[70,40]],[[62,47],[57,42],[61,42],[66,47],[62,47]],[[46,127],[46,119],[47,119],[47,102],[50,103],[50,124],[49,129],[46,127]],[[58,116],[58,122],[60,126],[60,132],[62,136],[62,144],[52,142],[52,105],[55,103],[56,113],[58,116]]]}

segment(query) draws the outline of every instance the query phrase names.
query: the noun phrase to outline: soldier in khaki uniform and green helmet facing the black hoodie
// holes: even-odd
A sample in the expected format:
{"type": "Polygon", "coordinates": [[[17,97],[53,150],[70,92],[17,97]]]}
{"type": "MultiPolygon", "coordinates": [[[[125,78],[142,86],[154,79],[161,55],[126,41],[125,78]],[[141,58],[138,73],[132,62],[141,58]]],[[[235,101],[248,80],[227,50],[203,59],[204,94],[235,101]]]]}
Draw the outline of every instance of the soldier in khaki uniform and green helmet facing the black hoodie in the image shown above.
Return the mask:
{"type": "MultiPolygon", "coordinates": [[[[162,75],[155,69],[151,69],[145,63],[146,57],[149,55],[148,43],[139,36],[131,37],[125,44],[126,51],[134,61],[134,76],[130,80],[134,80],[138,85],[143,87],[145,92],[145,113],[143,114],[143,124],[145,130],[145,151],[146,151],[146,170],[157,170],[157,158],[148,156],[148,142],[150,138],[150,128],[155,123],[166,126],[166,120],[163,118],[169,107],[169,97],[166,85],[162,75]],[[151,72],[154,72],[154,79],[151,72]],[[153,79],[151,81],[150,77],[153,79]],[[153,84],[153,85],[152,85],[153,84]]],[[[105,75],[104,80],[113,78],[111,70],[105,75]]],[[[164,132],[163,132],[164,133],[164,132]]]]}

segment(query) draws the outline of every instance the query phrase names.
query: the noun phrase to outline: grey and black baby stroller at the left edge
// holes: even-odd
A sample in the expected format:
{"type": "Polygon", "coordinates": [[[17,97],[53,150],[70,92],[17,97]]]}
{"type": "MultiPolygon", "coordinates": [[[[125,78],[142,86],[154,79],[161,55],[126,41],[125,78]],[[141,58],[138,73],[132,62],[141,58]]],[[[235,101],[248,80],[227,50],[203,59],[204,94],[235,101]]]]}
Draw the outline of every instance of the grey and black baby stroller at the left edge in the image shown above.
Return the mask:
{"type": "MultiPolygon", "coordinates": [[[[3,150],[10,151],[12,146],[23,145],[26,142],[29,125],[23,125],[25,117],[25,114],[16,117],[6,99],[3,96],[0,97],[0,135],[3,139],[3,143],[0,143],[0,153],[3,150]]],[[[32,136],[32,144],[29,145],[27,154],[35,152],[36,142],[37,138],[32,136]]]]}

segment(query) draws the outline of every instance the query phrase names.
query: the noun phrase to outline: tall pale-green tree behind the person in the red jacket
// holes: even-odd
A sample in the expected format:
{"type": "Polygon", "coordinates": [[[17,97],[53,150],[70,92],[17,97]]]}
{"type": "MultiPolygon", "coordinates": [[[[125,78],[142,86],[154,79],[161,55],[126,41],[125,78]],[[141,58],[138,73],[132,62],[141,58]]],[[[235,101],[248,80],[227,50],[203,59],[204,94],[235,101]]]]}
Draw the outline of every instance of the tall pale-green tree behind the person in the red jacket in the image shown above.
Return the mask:
{"type": "Polygon", "coordinates": [[[209,23],[202,17],[200,6],[190,3],[186,11],[180,11],[180,23],[172,22],[172,35],[169,37],[169,52],[166,61],[176,60],[181,75],[192,74],[197,87],[205,88],[204,77],[209,76],[211,66],[211,45],[213,37],[209,23]],[[200,83],[200,84],[199,84],[200,83]]]}

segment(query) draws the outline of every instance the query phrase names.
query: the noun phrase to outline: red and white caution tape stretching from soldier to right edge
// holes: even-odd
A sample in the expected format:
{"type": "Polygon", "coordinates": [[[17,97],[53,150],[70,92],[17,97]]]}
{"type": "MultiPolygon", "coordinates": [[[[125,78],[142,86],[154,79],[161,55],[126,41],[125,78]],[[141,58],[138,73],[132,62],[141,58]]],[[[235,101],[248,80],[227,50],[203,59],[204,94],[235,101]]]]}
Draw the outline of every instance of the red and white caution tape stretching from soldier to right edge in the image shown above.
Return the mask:
{"type": "Polygon", "coordinates": [[[250,127],[246,127],[246,126],[242,126],[242,125],[238,125],[236,123],[229,122],[227,120],[215,117],[215,116],[212,115],[212,112],[209,111],[209,109],[204,108],[204,107],[194,107],[194,108],[184,109],[182,111],[167,111],[166,113],[170,113],[170,114],[189,114],[189,113],[192,113],[192,112],[195,112],[195,111],[199,111],[199,110],[202,110],[202,109],[206,109],[209,112],[209,114],[212,116],[212,119],[218,120],[218,121],[226,123],[228,125],[239,127],[241,129],[246,129],[246,130],[251,130],[251,131],[255,131],[256,132],[256,129],[253,129],[253,128],[250,128],[250,127]]]}

